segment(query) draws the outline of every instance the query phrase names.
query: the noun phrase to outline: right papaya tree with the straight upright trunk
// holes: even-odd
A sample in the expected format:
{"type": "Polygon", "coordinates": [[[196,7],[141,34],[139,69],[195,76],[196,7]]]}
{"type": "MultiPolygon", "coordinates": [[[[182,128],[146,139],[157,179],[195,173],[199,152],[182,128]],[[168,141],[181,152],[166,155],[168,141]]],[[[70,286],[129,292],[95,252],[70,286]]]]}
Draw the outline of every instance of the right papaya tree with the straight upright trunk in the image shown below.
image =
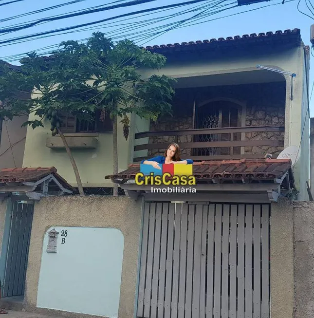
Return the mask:
{"type": "MultiPolygon", "coordinates": [[[[143,70],[154,73],[165,66],[166,57],[140,48],[130,40],[114,44],[104,34],[96,32],[86,44],[71,41],[63,45],[82,59],[82,74],[87,73],[85,68],[91,71],[94,98],[98,100],[96,107],[101,110],[101,116],[107,113],[112,120],[113,174],[117,174],[118,120],[123,124],[124,137],[128,139],[129,114],[135,113],[153,121],[160,115],[172,115],[171,100],[176,80],[155,74],[142,78],[143,70]]],[[[117,185],[114,185],[113,195],[117,195],[117,190],[117,185]]]]}

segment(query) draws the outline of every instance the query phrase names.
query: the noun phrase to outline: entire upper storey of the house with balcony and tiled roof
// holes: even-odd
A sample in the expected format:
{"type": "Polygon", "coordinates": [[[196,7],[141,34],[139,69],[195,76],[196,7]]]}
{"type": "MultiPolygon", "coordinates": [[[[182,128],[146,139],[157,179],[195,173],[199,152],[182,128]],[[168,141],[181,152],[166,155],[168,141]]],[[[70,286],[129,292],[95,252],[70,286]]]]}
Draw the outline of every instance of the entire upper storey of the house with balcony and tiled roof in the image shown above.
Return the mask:
{"type": "MultiPolygon", "coordinates": [[[[147,49],[167,58],[157,74],[178,79],[174,116],[153,124],[131,115],[128,141],[119,124],[119,171],[163,152],[170,141],[178,141],[184,157],[196,161],[259,159],[266,153],[274,159],[284,148],[296,145],[300,146],[300,160],[294,167],[295,184],[299,199],[307,199],[309,48],[302,42],[300,30],[147,49]],[[289,71],[296,77],[257,65],[289,71]],[[199,129],[207,131],[198,135],[191,131],[199,129]],[[200,142],[207,144],[204,147],[200,142]]],[[[143,71],[144,78],[151,74],[143,71]]],[[[104,179],[112,172],[111,127],[87,127],[74,117],[65,122],[83,186],[112,187],[111,181],[104,179]]],[[[55,166],[75,186],[66,151],[59,137],[51,137],[48,126],[28,128],[23,167],[55,166]]]]}

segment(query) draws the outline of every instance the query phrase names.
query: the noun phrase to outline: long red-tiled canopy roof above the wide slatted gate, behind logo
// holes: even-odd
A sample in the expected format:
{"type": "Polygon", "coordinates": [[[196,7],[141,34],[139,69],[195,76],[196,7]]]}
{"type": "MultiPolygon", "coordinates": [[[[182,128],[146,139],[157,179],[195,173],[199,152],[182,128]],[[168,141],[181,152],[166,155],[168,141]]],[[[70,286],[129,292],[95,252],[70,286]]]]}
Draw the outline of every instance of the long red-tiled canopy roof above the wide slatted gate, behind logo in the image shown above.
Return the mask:
{"type": "MultiPolygon", "coordinates": [[[[281,178],[291,168],[290,159],[242,159],[207,161],[193,164],[193,175],[197,180],[206,179],[251,179],[272,180],[281,178]]],[[[140,164],[130,164],[129,169],[115,175],[107,175],[105,179],[134,179],[140,172],[140,164]]]]}

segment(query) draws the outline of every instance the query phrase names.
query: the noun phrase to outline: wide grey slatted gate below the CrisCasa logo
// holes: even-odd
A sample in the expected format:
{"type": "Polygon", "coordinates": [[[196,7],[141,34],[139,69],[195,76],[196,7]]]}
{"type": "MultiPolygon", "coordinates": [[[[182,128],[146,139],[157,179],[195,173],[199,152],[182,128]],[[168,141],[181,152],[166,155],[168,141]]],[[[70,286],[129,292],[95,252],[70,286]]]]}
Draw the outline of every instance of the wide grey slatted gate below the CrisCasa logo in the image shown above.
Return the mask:
{"type": "Polygon", "coordinates": [[[269,318],[268,204],[146,203],[137,317],[269,318]]]}

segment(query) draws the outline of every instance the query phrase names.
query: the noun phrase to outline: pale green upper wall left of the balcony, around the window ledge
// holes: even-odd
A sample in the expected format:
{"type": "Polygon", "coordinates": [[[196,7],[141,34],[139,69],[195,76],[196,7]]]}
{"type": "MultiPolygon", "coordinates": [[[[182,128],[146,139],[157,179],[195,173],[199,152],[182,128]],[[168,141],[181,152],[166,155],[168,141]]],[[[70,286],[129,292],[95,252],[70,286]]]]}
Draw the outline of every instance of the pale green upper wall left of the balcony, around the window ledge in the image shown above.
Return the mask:
{"type": "MultiPolygon", "coordinates": [[[[135,116],[132,116],[135,117],[135,116]]],[[[30,119],[34,119],[30,115],[30,119]]],[[[132,162],[131,154],[134,147],[133,136],[135,132],[146,130],[146,123],[138,120],[130,127],[128,140],[123,136],[123,125],[118,121],[118,170],[123,171],[132,162]]],[[[73,136],[73,134],[70,134],[73,136]]],[[[83,135],[83,134],[81,134],[83,135]]],[[[94,135],[94,134],[93,134],[94,135]]],[[[65,134],[67,136],[67,134],[65,134]]],[[[88,136],[88,134],[84,134],[88,136]]],[[[50,149],[46,147],[47,138],[53,138],[50,131],[50,123],[45,127],[33,130],[27,128],[23,167],[52,167],[57,168],[58,173],[72,186],[76,186],[73,168],[65,149],[50,149]]],[[[58,137],[56,137],[58,138],[58,137]]],[[[112,132],[99,133],[96,149],[72,150],[76,165],[80,172],[83,187],[112,187],[111,180],[105,180],[105,176],[112,173],[112,132]]]]}

